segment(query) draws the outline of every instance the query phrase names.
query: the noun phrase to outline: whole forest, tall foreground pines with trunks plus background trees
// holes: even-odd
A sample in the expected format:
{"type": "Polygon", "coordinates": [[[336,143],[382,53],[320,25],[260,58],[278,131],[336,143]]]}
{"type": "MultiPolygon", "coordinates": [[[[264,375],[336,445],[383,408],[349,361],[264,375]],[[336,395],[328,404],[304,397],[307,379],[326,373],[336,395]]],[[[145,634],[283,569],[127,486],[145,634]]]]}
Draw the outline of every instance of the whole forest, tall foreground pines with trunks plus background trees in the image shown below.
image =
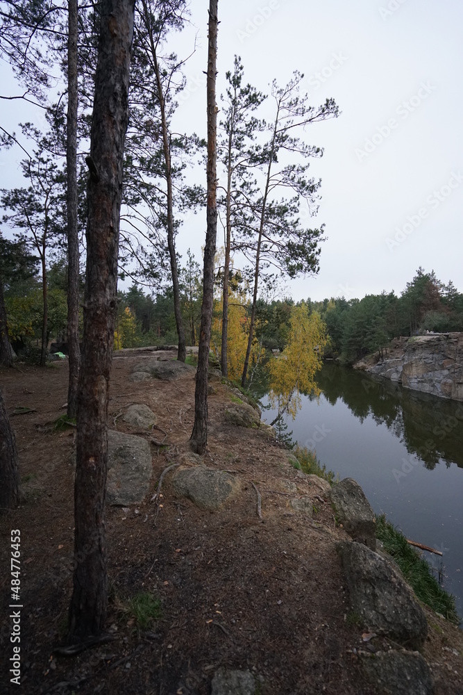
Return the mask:
{"type": "MultiPolygon", "coordinates": [[[[217,95],[217,0],[209,3],[207,139],[177,127],[187,56],[172,52],[171,40],[190,21],[185,0],[6,1],[0,16],[1,58],[22,92],[1,98],[42,114],[20,123],[21,133],[0,124],[0,147],[20,149],[24,179],[0,190],[0,362],[14,366],[14,350],[44,367],[50,343],[66,343],[79,558],[66,641],[85,648],[102,635],[108,603],[113,349],[174,344],[185,362],[186,346],[199,346],[189,441],[204,455],[210,351],[242,387],[267,363],[273,393],[289,403],[294,389],[313,385],[323,355],[353,363],[394,336],[461,330],[463,295],[419,268],[400,296],[281,298],[285,278],[319,272],[325,231],[311,222],[323,147],[308,133],[339,107],[332,98],[310,104],[297,66],[287,83],[260,92],[239,56],[217,95]],[[177,247],[194,213],[205,217],[201,263],[177,247]],[[277,350],[280,359],[270,359],[277,350]]],[[[1,393],[0,439],[0,506],[8,508],[21,496],[1,393]]]]}

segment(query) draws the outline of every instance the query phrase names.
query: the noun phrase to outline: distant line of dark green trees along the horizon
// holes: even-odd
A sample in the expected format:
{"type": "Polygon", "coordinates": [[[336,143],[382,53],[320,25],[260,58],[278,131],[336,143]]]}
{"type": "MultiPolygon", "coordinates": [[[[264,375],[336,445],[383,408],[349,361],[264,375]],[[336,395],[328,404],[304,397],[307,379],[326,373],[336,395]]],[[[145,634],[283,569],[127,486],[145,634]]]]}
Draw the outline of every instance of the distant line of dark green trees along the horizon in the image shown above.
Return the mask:
{"type": "MultiPolygon", "coordinates": [[[[66,268],[56,263],[49,269],[49,336],[65,339],[66,268]]],[[[190,256],[187,267],[180,270],[181,309],[187,344],[196,345],[201,315],[201,272],[190,256]]],[[[20,273],[10,277],[5,286],[10,335],[16,346],[40,338],[40,280],[26,279],[20,273]]],[[[242,315],[246,330],[249,302],[245,294],[235,296],[232,306],[242,315]]],[[[301,302],[299,302],[300,304],[301,302]]],[[[258,301],[255,342],[267,350],[283,350],[288,342],[294,300],[258,301]]],[[[328,328],[330,337],[326,357],[340,357],[353,363],[365,354],[382,352],[396,336],[422,332],[463,331],[463,294],[452,281],[444,285],[435,272],[416,271],[400,296],[394,292],[367,295],[363,299],[326,298],[323,302],[305,300],[309,313],[317,312],[328,328]]],[[[216,302],[216,322],[221,316],[221,301],[216,302]]],[[[146,293],[133,284],[118,293],[115,347],[176,344],[174,298],[171,288],[146,293]]],[[[214,343],[214,341],[213,341],[214,343]]]]}

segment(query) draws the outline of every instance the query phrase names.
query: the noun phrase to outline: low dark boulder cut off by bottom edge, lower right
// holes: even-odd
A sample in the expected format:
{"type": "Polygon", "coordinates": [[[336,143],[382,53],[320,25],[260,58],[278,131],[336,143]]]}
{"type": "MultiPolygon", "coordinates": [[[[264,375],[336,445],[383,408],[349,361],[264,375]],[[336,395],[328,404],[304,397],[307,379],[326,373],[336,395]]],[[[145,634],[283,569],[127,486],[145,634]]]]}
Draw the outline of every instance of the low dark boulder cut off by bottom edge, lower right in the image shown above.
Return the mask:
{"type": "Polygon", "coordinates": [[[433,695],[434,682],[428,664],[419,652],[376,652],[362,655],[368,680],[384,695],[433,695]]]}

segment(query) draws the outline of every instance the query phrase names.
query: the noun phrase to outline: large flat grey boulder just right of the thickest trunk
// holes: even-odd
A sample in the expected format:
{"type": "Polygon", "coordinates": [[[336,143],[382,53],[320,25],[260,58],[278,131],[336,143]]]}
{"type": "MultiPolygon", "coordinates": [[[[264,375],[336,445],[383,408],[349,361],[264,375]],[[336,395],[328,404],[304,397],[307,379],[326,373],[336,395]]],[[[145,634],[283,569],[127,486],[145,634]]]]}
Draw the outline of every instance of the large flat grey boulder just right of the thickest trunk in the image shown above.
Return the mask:
{"type": "Polygon", "coordinates": [[[149,443],[140,436],[108,431],[108,481],[110,505],[140,504],[148,494],[153,473],[149,443]]]}

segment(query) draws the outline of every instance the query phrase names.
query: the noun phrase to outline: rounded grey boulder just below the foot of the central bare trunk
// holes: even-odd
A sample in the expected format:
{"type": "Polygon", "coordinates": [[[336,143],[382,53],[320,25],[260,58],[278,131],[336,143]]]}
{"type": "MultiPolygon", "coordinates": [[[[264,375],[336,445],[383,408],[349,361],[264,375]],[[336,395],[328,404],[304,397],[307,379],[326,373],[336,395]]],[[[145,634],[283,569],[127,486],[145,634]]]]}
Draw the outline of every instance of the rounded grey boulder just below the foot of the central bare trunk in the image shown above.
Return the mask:
{"type": "Polygon", "coordinates": [[[189,498],[200,509],[219,509],[241,486],[230,473],[205,466],[178,468],[172,483],[178,495],[189,498]]]}

